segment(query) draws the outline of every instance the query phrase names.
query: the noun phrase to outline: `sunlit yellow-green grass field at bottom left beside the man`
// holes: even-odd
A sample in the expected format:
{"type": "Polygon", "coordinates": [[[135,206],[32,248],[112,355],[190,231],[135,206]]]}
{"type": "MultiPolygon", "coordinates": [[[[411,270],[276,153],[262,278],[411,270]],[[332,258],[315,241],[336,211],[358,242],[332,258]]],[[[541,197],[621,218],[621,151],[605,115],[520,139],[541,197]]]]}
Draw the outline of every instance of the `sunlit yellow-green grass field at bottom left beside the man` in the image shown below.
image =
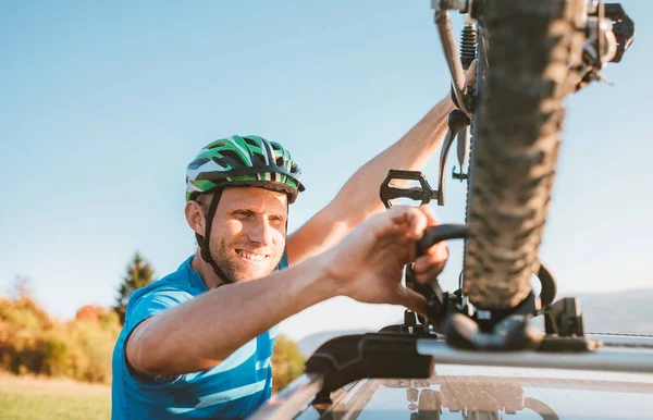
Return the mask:
{"type": "Polygon", "coordinates": [[[111,418],[111,388],[0,372],[0,420],[111,418]]]}

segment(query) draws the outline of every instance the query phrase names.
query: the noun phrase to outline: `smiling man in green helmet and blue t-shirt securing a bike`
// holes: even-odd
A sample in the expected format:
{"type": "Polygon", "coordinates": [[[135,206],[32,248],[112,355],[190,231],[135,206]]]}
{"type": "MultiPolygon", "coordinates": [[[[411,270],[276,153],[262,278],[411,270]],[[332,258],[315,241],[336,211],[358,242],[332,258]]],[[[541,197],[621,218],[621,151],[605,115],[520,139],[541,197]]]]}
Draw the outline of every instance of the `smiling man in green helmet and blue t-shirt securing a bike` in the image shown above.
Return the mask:
{"type": "MultiPolygon", "coordinates": [[[[436,104],[287,240],[287,209],[304,189],[289,152],[258,136],[204,148],[187,169],[185,206],[199,248],[131,297],[113,353],[112,419],[251,413],[271,394],[275,325],[331,297],[424,313],[402,270],[438,222],[427,207],[384,211],[378,192],[389,169],[419,169],[438,150],[452,109],[448,97],[436,104]]],[[[418,281],[446,257],[440,244],[417,259],[418,281]]]]}

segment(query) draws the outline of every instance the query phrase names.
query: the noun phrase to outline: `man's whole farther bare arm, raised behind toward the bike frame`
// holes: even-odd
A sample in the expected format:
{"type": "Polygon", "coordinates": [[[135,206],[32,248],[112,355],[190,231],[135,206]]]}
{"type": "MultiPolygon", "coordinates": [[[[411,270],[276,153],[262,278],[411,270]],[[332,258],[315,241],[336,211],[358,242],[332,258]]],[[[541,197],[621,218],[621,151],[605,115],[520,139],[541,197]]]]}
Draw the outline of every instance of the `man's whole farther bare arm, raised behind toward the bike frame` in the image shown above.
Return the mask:
{"type": "MultiPolygon", "coordinates": [[[[382,211],[379,187],[387,171],[423,168],[442,145],[453,109],[447,95],[404,137],[358,169],[326,207],[288,237],[289,263],[296,264],[331,248],[360,222],[382,211]]],[[[406,186],[399,182],[396,185],[406,186]]]]}

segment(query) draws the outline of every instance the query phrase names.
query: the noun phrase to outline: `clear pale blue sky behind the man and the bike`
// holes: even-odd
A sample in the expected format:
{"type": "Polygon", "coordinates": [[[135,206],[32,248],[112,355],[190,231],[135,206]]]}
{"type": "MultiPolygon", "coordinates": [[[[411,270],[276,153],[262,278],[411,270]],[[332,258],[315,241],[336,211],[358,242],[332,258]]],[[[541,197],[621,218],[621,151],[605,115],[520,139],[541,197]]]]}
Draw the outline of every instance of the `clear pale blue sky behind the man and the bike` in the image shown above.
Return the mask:
{"type": "MultiPolygon", "coordinates": [[[[27,275],[37,298],[70,318],[113,301],[136,250],[159,277],[175,270],[195,245],[185,166],[231,134],[292,150],[308,187],[291,210],[299,226],[447,92],[429,3],[2,2],[0,289],[27,275]]],[[[653,10],[624,3],[637,39],[606,71],[615,85],[567,101],[541,251],[563,293],[653,285],[653,10]]],[[[436,162],[424,169],[431,185],[436,162]]],[[[447,206],[435,211],[461,222],[464,185],[447,181],[447,206]]],[[[451,250],[448,288],[459,244],[451,250]]],[[[282,331],[300,338],[401,316],[338,298],[282,331]]]]}

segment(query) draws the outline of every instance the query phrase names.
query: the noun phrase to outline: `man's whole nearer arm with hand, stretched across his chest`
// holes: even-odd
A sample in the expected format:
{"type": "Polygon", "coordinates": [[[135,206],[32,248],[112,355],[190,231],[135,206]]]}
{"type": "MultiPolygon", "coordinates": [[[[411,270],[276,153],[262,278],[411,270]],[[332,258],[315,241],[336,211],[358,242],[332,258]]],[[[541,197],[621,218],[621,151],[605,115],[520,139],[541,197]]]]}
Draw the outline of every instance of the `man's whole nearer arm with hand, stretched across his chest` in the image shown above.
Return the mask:
{"type": "MultiPolygon", "coordinates": [[[[396,207],[329,252],[163,310],[134,329],[126,343],[128,362],[152,376],[210,369],[284,319],[338,295],[426,313],[423,296],[401,281],[404,265],[415,258],[415,240],[433,223],[428,208],[396,207]]],[[[416,264],[428,262],[422,256],[416,264]]],[[[422,283],[430,279],[428,271],[418,273],[422,283]]]]}

